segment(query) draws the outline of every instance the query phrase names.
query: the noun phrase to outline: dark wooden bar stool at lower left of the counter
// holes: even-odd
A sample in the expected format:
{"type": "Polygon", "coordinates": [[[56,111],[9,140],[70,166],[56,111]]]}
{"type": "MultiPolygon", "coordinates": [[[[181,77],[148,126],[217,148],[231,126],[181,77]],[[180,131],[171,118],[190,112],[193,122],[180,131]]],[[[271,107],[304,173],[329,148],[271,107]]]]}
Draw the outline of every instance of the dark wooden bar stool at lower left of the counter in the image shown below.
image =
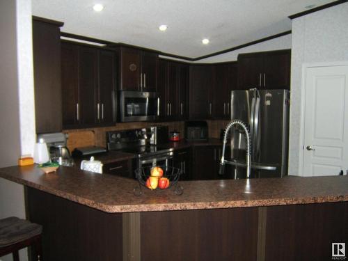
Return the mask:
{"type": "Polygon", "coordinates": [[[13,254],[13,260],[19,261],[19,249],[34,246],[37,261],[42,261],[42,226],[24,219],[11,216],[0,219],[0,257],[13,254]]]}

